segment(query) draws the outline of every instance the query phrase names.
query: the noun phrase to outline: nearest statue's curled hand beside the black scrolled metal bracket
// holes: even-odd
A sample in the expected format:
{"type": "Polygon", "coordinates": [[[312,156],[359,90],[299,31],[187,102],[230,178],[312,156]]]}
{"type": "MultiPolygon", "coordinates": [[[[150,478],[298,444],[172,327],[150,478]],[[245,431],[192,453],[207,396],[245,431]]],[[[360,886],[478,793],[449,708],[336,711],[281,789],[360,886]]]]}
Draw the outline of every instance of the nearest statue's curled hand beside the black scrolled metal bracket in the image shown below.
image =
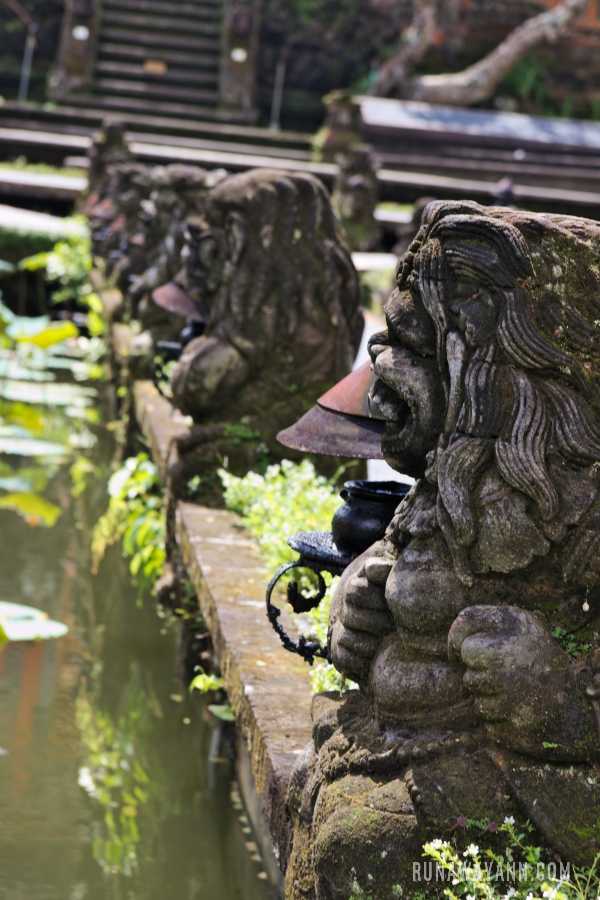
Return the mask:
{"type": "Polygon", "coordinates": [[[344,572],[330,613],[330,649],[334,666],[359,683],[366,680],[383,635],[394,627],[385,599],[392,560],[373,548],[344,572]]]}

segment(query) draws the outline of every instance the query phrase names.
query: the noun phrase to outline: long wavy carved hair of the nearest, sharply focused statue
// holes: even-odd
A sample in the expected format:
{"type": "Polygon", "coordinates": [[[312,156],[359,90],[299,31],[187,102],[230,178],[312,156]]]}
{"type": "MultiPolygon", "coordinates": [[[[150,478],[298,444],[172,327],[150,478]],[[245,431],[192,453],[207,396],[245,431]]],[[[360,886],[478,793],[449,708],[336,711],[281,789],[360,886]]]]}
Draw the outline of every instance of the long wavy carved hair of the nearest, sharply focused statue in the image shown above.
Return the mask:
{"type": "Polygon", "coordinates": [[[462,408],[438,449],[439,523],[465,580],[476,538],[474,490],[490,465],[532,502],[546,534],[564,537],[564,528],[552,530],[560,485],[549,460],[563,460],[570,471],[589,471],[600,461],[600,228],[585,224],[474,203],[434,203],[399,262],[400,288],[436,281],[435,290],[422,294],[447,394],[453,286],[472,286],[474,296],[485,289],[497,314],[487,343],[470,353],[462,408]],[[566,282],[569,266],[574,271],[566,282]]]}

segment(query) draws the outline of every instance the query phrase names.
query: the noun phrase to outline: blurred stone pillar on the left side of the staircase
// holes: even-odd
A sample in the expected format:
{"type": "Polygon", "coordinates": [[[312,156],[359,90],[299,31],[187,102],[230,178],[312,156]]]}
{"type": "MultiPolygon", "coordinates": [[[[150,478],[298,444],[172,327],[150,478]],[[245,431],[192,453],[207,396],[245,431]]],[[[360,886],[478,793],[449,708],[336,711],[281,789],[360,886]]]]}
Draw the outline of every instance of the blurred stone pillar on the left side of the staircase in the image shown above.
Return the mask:
{"type": "Polygon", "coordinates": [[[65,0],[56,62],[48,81],[50,97],[89,92],[96,63],[101,0],[65,0]]]}

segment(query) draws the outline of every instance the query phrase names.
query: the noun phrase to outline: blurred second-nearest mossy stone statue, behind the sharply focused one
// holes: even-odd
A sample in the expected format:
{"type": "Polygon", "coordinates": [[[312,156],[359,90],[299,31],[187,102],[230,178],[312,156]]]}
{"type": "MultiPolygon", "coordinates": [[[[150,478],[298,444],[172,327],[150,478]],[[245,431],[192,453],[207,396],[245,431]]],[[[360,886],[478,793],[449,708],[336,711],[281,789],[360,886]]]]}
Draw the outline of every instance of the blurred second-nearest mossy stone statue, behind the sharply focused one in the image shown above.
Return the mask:
{"type": "Polygon", "coordinates": [[[329,196],[311,175],[231,176],[187,227],[177,280],[203,307],[206,331],[185,347],[171,385],[197,423],[180,442],[181,477],[196,466],[208,479],[224,455],[241,472],[289,456],[277,431],[352,368],[361,290],[329,196]]]}

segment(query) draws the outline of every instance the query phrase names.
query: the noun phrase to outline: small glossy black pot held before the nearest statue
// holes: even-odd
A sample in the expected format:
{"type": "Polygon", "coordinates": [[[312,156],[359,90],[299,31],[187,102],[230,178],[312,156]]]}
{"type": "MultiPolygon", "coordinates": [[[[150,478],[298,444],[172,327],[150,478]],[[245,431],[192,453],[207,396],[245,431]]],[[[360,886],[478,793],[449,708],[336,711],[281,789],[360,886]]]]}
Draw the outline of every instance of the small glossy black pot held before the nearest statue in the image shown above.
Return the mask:
{"type": "Polygon", "coordinates": [[[409,490],[402,481],[347,481],[340,493],[346,502],[331,523],[336,547],[357,555],[380,540],[409,490]]]}

